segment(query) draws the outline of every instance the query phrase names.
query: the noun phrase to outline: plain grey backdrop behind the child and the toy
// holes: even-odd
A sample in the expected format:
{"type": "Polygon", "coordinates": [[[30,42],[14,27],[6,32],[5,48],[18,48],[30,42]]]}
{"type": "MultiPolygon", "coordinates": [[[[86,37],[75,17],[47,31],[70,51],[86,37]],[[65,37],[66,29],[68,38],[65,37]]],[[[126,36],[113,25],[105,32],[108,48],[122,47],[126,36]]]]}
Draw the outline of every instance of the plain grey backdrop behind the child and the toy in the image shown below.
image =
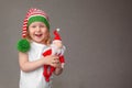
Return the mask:
{"type": "Polygon", "coordinates": [[[62,29],[67,47],[54,88],[132,88],[131,0],[1,0],[0,88],[19,88],[15,46],[32,7],[50,15],[51,31],[62,29]]]}

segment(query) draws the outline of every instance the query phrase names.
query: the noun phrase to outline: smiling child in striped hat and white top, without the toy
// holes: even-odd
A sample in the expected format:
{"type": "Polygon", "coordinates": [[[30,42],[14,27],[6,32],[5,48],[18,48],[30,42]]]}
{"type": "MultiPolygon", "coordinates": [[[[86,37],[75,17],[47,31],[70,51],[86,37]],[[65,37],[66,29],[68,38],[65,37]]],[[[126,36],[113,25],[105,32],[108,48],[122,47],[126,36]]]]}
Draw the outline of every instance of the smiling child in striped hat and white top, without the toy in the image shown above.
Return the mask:
{"type": "Polygon", "coordinates": [[[47,14],[38,9],[30,9],[23,23],[22,37],[18,42],[20,88],[51,88],[51,81],[46,81],[43,76],[43,66],[55,67],[55,75],[59,75],[63,68],[58,56],[42,55],[51,45],[47,14]]]}

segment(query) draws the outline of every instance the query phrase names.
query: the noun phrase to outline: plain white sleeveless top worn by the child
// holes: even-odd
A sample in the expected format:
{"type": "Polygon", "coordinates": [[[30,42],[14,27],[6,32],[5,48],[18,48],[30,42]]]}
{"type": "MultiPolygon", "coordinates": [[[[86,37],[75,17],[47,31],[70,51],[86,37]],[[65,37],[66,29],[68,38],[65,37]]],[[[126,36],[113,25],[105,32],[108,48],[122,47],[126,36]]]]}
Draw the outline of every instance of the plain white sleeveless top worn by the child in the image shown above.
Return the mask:
{"type": "MultiPolygon", "coordinates": [[[[29,62],[40,59],[45,48],[47,48],[46,45],[32,42],[31,50],[28,52],[29,62]]],[[[51,88],[51,85],[52,80],[50,82],[45,81],[43,76],[43,67],[40,67],[30,73],[24,73],[21,70],[20,88],[51,88]]]]}

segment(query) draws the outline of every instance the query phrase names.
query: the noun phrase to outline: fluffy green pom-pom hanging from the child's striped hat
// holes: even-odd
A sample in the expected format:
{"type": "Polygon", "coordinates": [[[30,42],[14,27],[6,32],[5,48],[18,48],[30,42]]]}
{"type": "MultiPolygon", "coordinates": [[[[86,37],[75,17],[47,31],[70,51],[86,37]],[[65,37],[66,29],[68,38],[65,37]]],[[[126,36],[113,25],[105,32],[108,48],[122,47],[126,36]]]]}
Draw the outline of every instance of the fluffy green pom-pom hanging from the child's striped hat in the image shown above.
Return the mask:
{"type": "Polygon", "coordinates": [[[25,38],[22,38],[18,42],[18,51],[22,52],[22,53],[25,53],[30,50],[30,43],[28,40],[25,38]]]}

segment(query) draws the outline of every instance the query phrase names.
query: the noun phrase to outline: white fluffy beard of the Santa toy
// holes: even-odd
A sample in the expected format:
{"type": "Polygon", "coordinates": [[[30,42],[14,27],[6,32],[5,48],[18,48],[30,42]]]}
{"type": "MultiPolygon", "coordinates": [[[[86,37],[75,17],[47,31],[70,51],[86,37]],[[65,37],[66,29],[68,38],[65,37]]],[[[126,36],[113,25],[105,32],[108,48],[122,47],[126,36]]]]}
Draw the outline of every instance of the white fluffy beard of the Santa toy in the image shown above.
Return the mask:
{"type": "Polygon", "coordinates": [[[51,47],[53,50],[53,55],[59,55],[59,56],[64,55],[64,52],[66,50],[64,45],[62,48],[58,48],[56,45],[52,44],[51,47]]]}

